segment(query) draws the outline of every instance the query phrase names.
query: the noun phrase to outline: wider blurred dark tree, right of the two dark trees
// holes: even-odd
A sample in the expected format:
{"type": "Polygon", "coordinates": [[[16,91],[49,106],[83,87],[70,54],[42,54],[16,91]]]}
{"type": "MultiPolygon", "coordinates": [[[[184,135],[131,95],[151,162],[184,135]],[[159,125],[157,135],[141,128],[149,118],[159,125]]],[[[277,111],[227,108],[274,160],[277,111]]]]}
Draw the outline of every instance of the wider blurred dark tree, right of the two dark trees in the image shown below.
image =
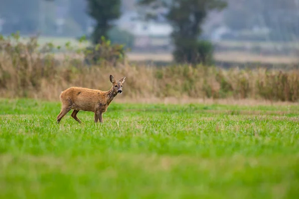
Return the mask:
{"type": "MultiPolygon", "coordinates": [[[[167,8],[166,18],[173,27],[171,37],[174,44],[174,58],[177,62],[198,63],[203,62],[201,54],[203,47],[208,49],[206,42],[198,41],[202,33],[201,24],[208,11],[221,10],[226,6],[224,0],[140,0],[141,5],[147,5],[152,10],[167,8]]],[[[152,18],[155,15],[150,15],[152,18]]]]}

